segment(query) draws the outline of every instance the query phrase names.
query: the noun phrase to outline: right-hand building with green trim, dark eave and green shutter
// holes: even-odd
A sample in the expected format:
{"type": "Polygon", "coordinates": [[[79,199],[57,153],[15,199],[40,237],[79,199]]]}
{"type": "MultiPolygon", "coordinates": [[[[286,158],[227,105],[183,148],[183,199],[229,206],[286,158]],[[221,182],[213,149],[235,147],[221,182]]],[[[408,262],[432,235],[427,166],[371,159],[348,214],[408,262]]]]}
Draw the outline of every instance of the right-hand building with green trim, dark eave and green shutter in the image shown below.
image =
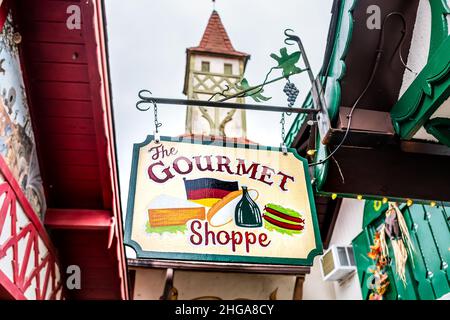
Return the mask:
{"type": "Polygon", "coordinates": [[[355,267],[324,281],[317,258],[305,299],[448,299],[449,12],[440,0],[334,1],[318,75],[331,128],[298,116],[287,142],[315,150],[316,195],[337,203],[325,246],[351,247],[355,267]]]}

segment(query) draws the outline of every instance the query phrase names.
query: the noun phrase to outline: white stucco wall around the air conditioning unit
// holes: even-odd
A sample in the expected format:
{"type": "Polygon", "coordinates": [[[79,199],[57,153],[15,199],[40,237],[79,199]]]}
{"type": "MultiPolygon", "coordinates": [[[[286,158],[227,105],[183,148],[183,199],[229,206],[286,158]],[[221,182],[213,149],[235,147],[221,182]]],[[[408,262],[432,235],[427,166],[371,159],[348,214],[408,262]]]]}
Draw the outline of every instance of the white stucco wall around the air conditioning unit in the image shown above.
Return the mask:
{"type": "MultiPolygon", "coordinates": [[[[334,226],[330,246],[350,245],[353,238],[362,230],[363,213],[364,201],[344,199],[334,226]]],[[[305,279],[303,299],[361,300],[358,275],[353,274],[342,284],[336,281],[325,282],[322,280],[319,257],[316,257],[311,273],[305,279]]]]}

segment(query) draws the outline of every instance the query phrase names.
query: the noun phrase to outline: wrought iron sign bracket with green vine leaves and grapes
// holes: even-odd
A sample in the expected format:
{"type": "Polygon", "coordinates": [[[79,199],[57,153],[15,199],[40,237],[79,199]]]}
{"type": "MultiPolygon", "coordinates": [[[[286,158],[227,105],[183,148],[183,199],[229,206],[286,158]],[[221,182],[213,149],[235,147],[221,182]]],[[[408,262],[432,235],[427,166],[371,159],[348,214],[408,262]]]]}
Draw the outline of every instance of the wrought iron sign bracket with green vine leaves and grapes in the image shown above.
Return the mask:
{"type": "Polygon", "coordinates": [[[205,100],[186,100],[186,99],[171,99],[171,98],[158,98],[152,97],[152,93],[149,90],[139,91],[138,97],[139,101],[136,103],[136,108],[139,111],[147,111],[152,106],[155,112],[155,136],[158,135],[158,128],[161,123],[158,122],[157,105],[158,104],[169,104],[169,105],[181,105],[181,106],[196,106],[200,109],[204,107],[208,108],[225,108],[225,109],[242,109],[242,110],[256,110],[256,111],[270,111],[270,112],[280,112],[281,115],[281,125],[282,125],[282,148],[286,149],[284,146],[285,140],[285,115],[290,115],[292,113],[306,113],[313,114],[314,119],[318,123],[318,128],[323,141],[326,141],[326,136],[330,130],[330,119],[328,116],[328,111],[326,108],[326,102],[323,96],[323,87],[318,79],[315,79],[314,74],[311,70],[311,65],[309,64],[308,57],[306,55],[305,49],[301,42],[300,37],[292,34],[291,29],[286,29],[284,35],[286,36],[284,42],[287,45],[297,44],[298,51],[289,53],[287,48],[281,48],[279,54],[272,53],[270,57],[276,61],[276,65],[270,68],[265,76],[262,83],[258,85],[251,86],[246,78],[242,78],[238,83],[234,84],[231,88],[226,85],[225,89],[221,92],[214,93],[208,101],[205,100]],[[304,67],[300,67],[298,62],[300,59],[303,60],[304,67]],[[269,79],[272,71],[281,71],[281,76],[269,79]],[[314,108],[294,108],[295,100],[298,96],[299,90],[296,88],[295,84],[290,81],[290,77],[294,75],[301,74],[303,72],[308,73],[309,80],[311,82],[311,95],[313,98],[314,108]],[[263,95],[264,87],[268,84],[286,80],[286,85],[283,91],[286,93],[288,98],[288,106],[275,106],[275,105],[261,105],[261,104],[244,104],[238,102],[230,102],[234,98],[244,98],[251,97],[256,102],[268,101],[270,97],[263,95]],[[231,89],[237,91],[236,93],[231,93],[231,89]],[[216,98],[216,101],[213,101],[216,98]],[[227,101],[227,102],[225,102],[227,101]],[[283,147],[284,146],[284,147],[283,147]]]}

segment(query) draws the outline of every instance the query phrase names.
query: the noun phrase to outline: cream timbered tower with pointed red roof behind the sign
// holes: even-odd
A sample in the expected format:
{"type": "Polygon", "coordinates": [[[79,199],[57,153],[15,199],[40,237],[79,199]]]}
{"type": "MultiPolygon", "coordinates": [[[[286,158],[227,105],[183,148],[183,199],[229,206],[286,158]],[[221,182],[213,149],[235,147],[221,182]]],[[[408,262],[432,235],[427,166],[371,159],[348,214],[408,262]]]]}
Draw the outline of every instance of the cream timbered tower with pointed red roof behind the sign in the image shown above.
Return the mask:
{"type": "MultiPolygon", "coordinates": [[[[213,11],[200,44],[186,50],[186,74],[183,93],[192,100],[216,101],[225,91],[236,93],[234,85],[244,74],[250,55],[236,51],[213,11]],[[227,90],[227,88],[231,88],[227,90]]],[[[243,103],[244,98],[231,101],[243,103]]],[[[186,112],[186,134],[246,138],[245,110],[189,106],[186,112]]]]}

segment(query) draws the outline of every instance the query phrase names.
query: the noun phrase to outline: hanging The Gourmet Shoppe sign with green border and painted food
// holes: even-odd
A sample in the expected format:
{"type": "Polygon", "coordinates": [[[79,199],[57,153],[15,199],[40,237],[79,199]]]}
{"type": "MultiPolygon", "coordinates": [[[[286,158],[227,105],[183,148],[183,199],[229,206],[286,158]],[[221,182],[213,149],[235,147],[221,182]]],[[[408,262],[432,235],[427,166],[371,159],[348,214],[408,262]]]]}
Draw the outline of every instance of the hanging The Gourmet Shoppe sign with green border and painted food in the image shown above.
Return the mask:
{"type": "Polygon", "coordinates": [[[134,145],[125,242],[138,258],[312,265],[322,243],[307,162],[149,136],[134,145]]]}

